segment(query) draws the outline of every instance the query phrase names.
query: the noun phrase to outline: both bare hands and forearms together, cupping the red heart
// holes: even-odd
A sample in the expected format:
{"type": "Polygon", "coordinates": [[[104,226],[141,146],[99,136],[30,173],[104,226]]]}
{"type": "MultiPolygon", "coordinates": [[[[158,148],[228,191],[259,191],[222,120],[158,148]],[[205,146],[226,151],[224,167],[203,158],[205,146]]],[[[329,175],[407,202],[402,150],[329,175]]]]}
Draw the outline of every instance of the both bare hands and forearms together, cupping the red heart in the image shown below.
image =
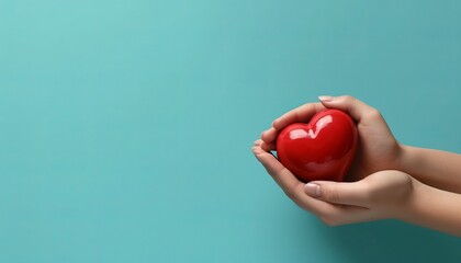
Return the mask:
{"type": "Polygon", "coordinates": [[[321,96],[277,118],[252,152],[284,193],[329,226],[394,218],[461,237],[461,155],[404,146],[380,112],[352,96],[321,96]],[[277,135],[325,108],[347,112],[359,149],[347,182],[299,181],[271,153],[277,135]]]}

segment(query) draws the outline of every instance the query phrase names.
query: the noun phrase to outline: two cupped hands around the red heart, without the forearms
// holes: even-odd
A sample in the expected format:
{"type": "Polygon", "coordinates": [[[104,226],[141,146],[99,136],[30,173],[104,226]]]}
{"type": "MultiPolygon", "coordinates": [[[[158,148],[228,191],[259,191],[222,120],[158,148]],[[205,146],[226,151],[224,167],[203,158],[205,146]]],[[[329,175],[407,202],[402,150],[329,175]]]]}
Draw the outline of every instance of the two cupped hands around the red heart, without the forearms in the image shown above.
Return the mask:
{"type": "Polygon", "coordinates": [[[403,147],[380,112],[352,96],[321,96],[277,118],[255,141],[252,152],[285,194],[325,224],[338,226],[384,218],[400,218],[412,198],[416,180],[401,172],[403,147]],[[307,123],[325,108],[348,113],[359,132],[359,148],[347,181],[299,181],[270,152],[278,134],[289,124],[307,123]]]}

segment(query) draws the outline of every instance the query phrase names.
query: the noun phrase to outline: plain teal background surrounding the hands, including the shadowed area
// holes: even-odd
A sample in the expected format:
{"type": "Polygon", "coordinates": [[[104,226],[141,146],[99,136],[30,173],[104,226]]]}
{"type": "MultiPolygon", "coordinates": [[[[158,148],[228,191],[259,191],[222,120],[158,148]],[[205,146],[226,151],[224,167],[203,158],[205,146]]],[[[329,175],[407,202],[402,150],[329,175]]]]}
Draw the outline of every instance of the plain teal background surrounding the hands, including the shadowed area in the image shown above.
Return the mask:
{"type": "Polygon", "coordinates": [[[0,0],[0,262],[459,262],[329,228],[250,152],[321,94],[461,151],[461,1],[0,0]]]}

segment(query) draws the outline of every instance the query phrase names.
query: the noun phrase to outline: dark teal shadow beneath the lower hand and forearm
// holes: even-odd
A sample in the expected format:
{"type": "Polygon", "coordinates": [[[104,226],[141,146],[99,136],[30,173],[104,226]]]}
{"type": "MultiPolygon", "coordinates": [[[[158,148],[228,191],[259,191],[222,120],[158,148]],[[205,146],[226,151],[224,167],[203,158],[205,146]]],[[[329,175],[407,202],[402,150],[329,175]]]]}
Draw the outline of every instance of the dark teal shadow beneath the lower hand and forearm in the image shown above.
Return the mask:
{"type": "Polygon", "coordinates": [[[296,242],[310,243],[315,237],[341,263],[461,262],[461,239],[402,221],[328,227],[306,213],[296,213],[293,220],[300,231],[296,242]]]}

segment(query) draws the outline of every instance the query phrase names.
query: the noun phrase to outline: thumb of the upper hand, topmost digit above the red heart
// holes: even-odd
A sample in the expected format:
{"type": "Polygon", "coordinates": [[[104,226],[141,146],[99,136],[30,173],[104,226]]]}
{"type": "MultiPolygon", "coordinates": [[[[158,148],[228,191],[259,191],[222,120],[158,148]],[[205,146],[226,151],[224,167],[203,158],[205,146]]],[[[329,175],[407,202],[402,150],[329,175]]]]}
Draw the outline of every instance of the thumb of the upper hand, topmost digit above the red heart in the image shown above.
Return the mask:
{"type": "Polygon", "coordinates": [[[350,95],[319,96],[318,99],[326,107],[347,112],[356,122],[360,122],[368,114],[379,113],[376,108],[350,95]]]}

